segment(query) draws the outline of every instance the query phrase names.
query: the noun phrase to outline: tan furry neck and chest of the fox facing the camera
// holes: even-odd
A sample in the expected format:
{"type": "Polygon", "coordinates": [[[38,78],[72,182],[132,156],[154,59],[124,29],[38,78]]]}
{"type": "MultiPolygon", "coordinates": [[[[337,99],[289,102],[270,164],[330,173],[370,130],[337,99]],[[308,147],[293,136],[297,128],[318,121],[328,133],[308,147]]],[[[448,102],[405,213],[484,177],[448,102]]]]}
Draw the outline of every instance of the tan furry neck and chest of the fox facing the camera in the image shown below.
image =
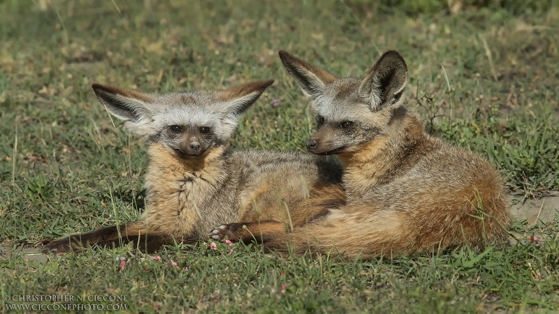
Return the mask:
{"type": "Polygon", "coordinates": [[[163,228],[183,237],[191,236],[200,216],[207,214],[209,199],[227,179],[224,151],[224,147],[217,147],[204,158],[186,160],[177,158],[161,144],[148,147],[144,218],[151,230],[163,228]]]}

